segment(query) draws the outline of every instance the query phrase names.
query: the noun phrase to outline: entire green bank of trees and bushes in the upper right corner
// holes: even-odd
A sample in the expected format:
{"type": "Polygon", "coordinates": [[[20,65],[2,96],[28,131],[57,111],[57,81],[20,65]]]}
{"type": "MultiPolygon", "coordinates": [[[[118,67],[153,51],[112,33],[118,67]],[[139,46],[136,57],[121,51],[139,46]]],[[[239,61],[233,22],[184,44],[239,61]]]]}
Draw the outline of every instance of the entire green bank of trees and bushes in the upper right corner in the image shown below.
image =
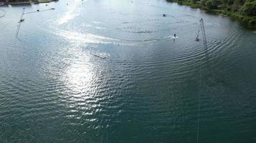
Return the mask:
{"type": "Polygon", "coordinates": [[[200,8],[237,19],[248,28],[256,28],[256,0],[166,0],[200,8]]]}

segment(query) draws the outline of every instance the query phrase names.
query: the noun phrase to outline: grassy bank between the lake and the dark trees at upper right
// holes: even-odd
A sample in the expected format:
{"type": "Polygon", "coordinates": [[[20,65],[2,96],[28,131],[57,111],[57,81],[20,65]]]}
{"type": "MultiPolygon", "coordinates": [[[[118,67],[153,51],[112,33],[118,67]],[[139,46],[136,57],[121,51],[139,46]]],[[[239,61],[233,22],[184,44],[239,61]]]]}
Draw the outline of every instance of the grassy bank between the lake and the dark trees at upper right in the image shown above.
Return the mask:
{"type": "Polygon", "coordinates": [[[173,0],[170,2],[175,2],[180,5],[190,6],[193,9],[204,9],[211,14],[220,14],[223,16],[229,16],[232,19],[238,21],[242,26],[250,29],[256,29],[256,16],[246,16],[241,14],[239,11],[228,11],[227,6],[218,6],[216,9],[209,9],[209,7],[201,4],[201,1],[193,2],[191,0],[188,1],[180,1],[173,0]]]}

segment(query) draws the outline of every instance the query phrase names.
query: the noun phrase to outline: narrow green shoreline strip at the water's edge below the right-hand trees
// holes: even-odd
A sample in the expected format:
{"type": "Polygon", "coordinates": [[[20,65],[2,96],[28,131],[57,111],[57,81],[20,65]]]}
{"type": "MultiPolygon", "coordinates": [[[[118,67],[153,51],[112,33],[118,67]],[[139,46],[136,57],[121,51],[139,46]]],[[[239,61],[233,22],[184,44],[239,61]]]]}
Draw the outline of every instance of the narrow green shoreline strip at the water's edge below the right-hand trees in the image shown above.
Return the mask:
{"type": "Polygon", "coordinates": [[[206,6],[202,6],[201,4],[193,4],[192,1],[178,1],[173,0],[169,1],[171,3],[177,3],[182,6],[189,6],[192,9],[201,9],[205,10],[209,14],[216,14],[220,16],[229,16],[230,19],[237,21],[239,24],[244,26],[247,29],[256,29],[256,16],[244,16],[239,14],[238,12],[227,11],[224,9],[207,9],[206,6]]]}

